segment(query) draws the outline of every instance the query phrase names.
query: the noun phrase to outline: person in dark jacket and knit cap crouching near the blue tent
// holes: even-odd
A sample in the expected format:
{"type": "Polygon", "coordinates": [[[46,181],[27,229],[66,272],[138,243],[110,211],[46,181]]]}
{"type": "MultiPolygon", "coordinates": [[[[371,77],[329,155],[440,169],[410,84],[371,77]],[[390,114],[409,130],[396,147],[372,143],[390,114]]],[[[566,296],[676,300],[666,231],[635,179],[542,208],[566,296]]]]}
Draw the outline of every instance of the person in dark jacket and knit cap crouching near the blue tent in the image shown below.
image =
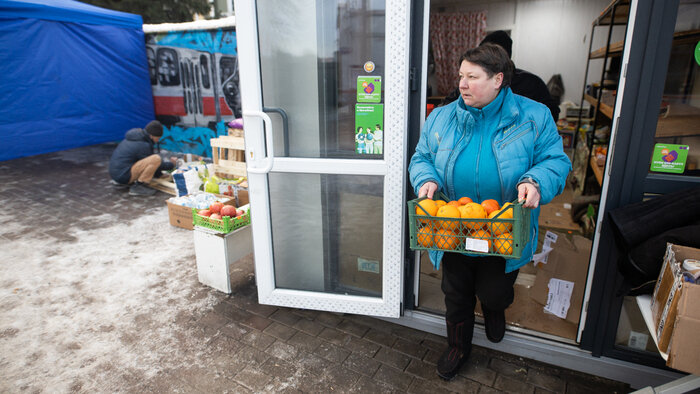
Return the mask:
{"type": "Polygon", "coordinates": [[[131,185],[132,196],[150,196],[156,191],[147,187],[153,176],[162,171],[172,170],[177,158],[164,162],[155,153],[155,144],[163,136],[163,125],[157,120],[149,122],[145,128],[134,128],[126,132],[124,140],[117,145],[109,160],[109,176],[118,185],[131,185]]]}

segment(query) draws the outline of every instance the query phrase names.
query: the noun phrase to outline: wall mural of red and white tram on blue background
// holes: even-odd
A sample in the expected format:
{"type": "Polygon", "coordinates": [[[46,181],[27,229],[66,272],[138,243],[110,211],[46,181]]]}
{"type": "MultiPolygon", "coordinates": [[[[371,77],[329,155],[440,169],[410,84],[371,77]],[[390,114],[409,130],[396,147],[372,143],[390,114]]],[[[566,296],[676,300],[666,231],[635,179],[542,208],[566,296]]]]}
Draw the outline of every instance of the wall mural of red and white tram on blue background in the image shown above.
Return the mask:
{"type": "Polygon", "coordinates": [[[144,25],[162,148],[211,157],[209,140],[241,117],[236,31],[219,21],[144,25]]]}

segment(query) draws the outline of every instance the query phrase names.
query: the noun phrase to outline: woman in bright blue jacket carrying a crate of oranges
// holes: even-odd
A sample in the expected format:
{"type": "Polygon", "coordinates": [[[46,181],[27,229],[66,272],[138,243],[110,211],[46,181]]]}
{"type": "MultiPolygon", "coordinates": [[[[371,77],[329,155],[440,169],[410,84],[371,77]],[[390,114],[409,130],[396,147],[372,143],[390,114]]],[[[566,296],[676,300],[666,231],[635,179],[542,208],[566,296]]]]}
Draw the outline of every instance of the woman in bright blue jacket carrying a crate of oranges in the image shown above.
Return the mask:
{"type": "Polygon", "coordinates": [[[505,309],[513,302],[518,269],[529,263],[537,245],[540,204],[564,189],[571,162],[549,109],[514,94],[513,63],[503,48],[484,44],[460,59],[456,101],[433,110],[425,122],[409,173],[418,197],[436,191],[451,200],[501,203],[516,197],[532,208],[532,238],[521,259],[430,252],[443,267],[448,347],[437,372],[452,379],[471,351],[476,297],[481,301],[486,336],[499,342],[505,334],[505,309]]]}

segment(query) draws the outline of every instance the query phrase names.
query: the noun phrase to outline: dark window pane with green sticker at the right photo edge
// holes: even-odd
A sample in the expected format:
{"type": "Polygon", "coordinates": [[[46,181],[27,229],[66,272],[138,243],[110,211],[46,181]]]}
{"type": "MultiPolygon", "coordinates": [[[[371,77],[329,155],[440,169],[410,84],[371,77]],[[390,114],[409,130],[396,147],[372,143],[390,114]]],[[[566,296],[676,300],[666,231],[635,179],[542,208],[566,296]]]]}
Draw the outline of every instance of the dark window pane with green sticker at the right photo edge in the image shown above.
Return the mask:
{"type": "Polygon", "coordinates": [[[681,1],[650,172],[700,176],[700,4],[681,1]]]}

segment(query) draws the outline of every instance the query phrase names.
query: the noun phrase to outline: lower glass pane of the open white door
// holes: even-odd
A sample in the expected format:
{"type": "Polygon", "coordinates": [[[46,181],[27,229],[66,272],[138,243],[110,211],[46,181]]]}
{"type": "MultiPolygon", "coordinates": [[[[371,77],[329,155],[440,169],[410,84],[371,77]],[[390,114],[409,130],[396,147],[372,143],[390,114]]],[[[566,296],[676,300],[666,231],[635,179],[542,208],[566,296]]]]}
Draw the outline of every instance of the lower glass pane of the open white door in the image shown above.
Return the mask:
{"type": "Polygon", "coordinates": [[[270,173],[275,287],[381,296],[383,183],[270,173]]]}

